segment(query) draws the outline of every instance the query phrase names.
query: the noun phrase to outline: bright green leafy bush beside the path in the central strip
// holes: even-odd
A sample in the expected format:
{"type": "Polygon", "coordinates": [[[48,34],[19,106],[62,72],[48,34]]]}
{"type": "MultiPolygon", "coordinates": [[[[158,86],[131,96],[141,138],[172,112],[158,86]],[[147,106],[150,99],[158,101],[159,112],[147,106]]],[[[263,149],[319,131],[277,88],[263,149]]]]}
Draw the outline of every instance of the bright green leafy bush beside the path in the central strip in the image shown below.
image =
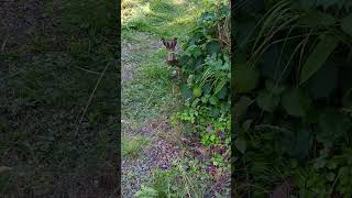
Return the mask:
{"type": "Polygon", "coordinates": [[[228,16],[226,4],[205,12],[179,58],[187,80],[182,86],[185,108],[176,118],[191,125],[190,135],[211,152],[216,166],[230,156],[229,47],[219,36],[219,24],[228,16]]]}

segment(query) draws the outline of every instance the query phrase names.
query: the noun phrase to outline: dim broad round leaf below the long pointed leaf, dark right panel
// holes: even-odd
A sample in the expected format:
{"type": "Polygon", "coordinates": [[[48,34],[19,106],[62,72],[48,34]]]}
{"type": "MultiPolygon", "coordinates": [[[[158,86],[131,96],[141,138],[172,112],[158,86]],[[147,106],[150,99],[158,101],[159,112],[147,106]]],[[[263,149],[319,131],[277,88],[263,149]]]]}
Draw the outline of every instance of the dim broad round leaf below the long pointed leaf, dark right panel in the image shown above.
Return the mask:
{"type": "Polygon", "coordinates": [[[299,88],[285,91],[282,98],[284,109],[294,117],[305,117],[310,103],[309,97],[299,88]]]}

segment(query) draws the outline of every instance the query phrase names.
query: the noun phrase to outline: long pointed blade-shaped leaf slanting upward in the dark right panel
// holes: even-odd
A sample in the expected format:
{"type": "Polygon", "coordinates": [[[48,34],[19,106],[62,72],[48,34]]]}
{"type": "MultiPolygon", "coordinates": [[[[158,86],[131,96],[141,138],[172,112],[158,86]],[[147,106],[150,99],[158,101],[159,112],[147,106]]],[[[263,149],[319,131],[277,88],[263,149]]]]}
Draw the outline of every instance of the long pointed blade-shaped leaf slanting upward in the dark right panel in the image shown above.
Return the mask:
{"type": "Polygon", "coordinates": [[[339,40],[334,36],[324,36],[322,41],[320,41],[302,66],[299,77],[299,85],[304,84],[320,69],[322,64],[338,46],[338,42],[339,40]]]}

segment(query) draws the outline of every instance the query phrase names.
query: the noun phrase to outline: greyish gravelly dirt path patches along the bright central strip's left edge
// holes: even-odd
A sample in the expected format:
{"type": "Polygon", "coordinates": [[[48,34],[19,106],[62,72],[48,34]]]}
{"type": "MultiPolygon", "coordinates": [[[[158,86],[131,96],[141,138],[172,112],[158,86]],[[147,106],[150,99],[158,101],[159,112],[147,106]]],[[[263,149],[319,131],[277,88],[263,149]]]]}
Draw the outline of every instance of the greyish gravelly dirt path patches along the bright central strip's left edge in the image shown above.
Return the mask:
{"type": "MultiPolygon", "coordinates": [[[[124,90],[131,88],[129,82],[140,77],[139,69],[145,67],[147,59],[151,59],[151,56],[163,47],[162,43],[151,35],[140,32],[136,32],[135,35],[143,41],[143,45],[122,38],[122,101],[128,100],[128,97],[124,97],[124,90]]],[[[160,59],[160,62],[163,61],[160,59]]],[[[125,117],[125,113],[122,111],[122,118],[125,117]]],[[[144,124],[133,128],[132,123],[138,122],[133,118],[122,120],[125,139],[131,140],[139,136],[150,140],[138,157],[122,157],[123,197],[134,197],[141,184],[151,177],[154,168],[165,169],[170,166],[173,160],[182,156],[179,147],[167,140],[167,136],[175,131],[168,125],[166,117],[160,116],[142,121],[144,124]]]]}

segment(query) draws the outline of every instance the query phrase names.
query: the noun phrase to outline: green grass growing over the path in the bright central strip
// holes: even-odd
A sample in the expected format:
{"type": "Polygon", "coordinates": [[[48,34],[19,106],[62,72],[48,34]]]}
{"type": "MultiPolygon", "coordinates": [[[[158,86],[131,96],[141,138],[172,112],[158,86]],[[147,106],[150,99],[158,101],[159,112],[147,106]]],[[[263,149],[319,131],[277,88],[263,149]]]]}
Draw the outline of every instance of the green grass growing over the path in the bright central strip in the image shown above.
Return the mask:
{"type": "MultiPolygon", "coordinates": [[[[122,74],[124,69],[130,70],[131,62],[136,66],[132,69],[133,78],[122,85],[122,119],[125,122],[122,124],[123,133],[141,129],[161,117],[169,122],[167,118],[172,118],[182,107],[180,81],[170,77],[172,69],[164,63],[166,50],[160,40],[176,36],[182,45],[201,13],[201,6],[200,1],[182,0],[122,1],[122,43],[130,51],[122,65],[122,74]],[[129,44],[134,47],[130,48],[129,44]]],[[[180,128],[174,128],[172,132],[160,130],[157,136],[184,150],[182,133],[180,128]]],[[[153,139],[154,136],[151,141],[153,139]]],[[[143,150],[138,146],[138,141],[123,141],[122,150],[127,150],[124,145],[131,146],[130,150],[136,151],[135,153],[143,150]]],[[[124,179],[129,179],[130,174],[132,173],[125,173],[124,179]]],[[[178,158],[166,170],[156,168],[153,177],[146,180],[136,197],[204,197],[212,191],[209,188],[212,183],[210,176],[201,164],[190,158],[178,158]]]]}

